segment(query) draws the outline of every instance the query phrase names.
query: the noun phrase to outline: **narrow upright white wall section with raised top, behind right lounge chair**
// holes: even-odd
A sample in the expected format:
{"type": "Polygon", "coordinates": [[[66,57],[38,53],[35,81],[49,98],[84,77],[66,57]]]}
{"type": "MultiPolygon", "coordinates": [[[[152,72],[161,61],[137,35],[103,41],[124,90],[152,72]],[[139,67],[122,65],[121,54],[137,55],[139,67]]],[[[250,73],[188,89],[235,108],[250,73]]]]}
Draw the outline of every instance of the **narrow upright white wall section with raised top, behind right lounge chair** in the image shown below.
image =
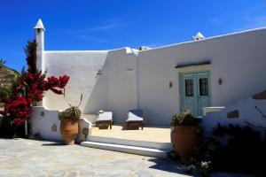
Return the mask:
{"type": "MultiPolygon", "coordinates": [[[[125,123],[129,110],[137,109],[137,67],[133,53],[127,49],[108,55],[108,110],[114,122],[125,123]]],[[[105,98],[104,98],[105,99],[105,98]]]]}

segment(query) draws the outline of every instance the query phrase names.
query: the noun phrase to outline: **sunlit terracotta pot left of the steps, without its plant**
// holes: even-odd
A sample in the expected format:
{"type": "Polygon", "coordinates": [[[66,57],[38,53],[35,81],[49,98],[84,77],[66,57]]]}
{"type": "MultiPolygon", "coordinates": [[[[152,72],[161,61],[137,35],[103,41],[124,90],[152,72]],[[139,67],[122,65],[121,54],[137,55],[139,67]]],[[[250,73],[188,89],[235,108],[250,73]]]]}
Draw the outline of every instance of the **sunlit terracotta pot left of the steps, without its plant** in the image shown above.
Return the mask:
{"type": "Polygon", "coordinates": [[[74,144],[74,139],[79,132],[78,122],[73,122],[68,119],[61,120],[60,132],[66,142],[66,145],[74,144]]]}

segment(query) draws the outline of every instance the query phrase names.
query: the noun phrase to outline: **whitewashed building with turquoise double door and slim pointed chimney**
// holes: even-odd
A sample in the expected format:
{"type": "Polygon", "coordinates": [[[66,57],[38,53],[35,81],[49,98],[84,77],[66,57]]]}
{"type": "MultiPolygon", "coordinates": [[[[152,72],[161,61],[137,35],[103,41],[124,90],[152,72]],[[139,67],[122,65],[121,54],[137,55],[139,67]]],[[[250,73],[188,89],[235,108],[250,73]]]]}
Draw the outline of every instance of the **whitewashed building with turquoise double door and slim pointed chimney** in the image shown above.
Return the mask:
{"type": "MultiPolygon", "coordinates": [[[[137,108],[145,124],[169,125],[181,108],[202,116],[203,107],[238,104],[266,89],[266,28],[209,38],[199,33],[190,42],[145,50],[45,50],[41,20],[35,35],[38,68],[70,76],[66,99],[77,104],[83,94],[83,113],[111,111],[114,123],[137,108]]],[[[266,112],[265,99],[260,104],[266,112]]],[[[43,105],[67,108],[63,96],[50,92],[43,105]]]]}

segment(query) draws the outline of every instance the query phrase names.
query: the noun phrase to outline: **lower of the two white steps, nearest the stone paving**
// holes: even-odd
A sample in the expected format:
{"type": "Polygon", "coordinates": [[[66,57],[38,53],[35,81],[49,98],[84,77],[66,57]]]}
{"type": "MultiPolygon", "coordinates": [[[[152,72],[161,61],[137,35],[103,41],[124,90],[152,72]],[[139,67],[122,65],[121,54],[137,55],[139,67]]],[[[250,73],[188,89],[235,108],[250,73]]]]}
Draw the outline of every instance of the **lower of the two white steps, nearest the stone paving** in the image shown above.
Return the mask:
{"type": "Polygon", "coordinates": [[[168,154],[168,150],[151,149],[151,148],[105,143],[105,142],[82,142],[81,145],[90,148],[120,151],[130,154],[137,154],[137,155],[150,156],[156,158],[167,158],[168,154]]]}

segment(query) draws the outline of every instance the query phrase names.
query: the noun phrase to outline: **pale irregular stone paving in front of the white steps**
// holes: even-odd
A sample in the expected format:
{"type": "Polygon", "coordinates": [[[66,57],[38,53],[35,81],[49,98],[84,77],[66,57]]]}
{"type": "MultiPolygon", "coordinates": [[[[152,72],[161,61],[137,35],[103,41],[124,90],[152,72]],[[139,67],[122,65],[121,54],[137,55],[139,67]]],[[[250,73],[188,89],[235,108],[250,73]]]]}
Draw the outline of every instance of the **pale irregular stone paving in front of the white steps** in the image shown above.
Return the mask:
{"type": "Polygon", "coordinates": [[[176,163],[167,159],[19,138],[0,139],[0,176],[185,175],[176,169],[176,163]]]}

